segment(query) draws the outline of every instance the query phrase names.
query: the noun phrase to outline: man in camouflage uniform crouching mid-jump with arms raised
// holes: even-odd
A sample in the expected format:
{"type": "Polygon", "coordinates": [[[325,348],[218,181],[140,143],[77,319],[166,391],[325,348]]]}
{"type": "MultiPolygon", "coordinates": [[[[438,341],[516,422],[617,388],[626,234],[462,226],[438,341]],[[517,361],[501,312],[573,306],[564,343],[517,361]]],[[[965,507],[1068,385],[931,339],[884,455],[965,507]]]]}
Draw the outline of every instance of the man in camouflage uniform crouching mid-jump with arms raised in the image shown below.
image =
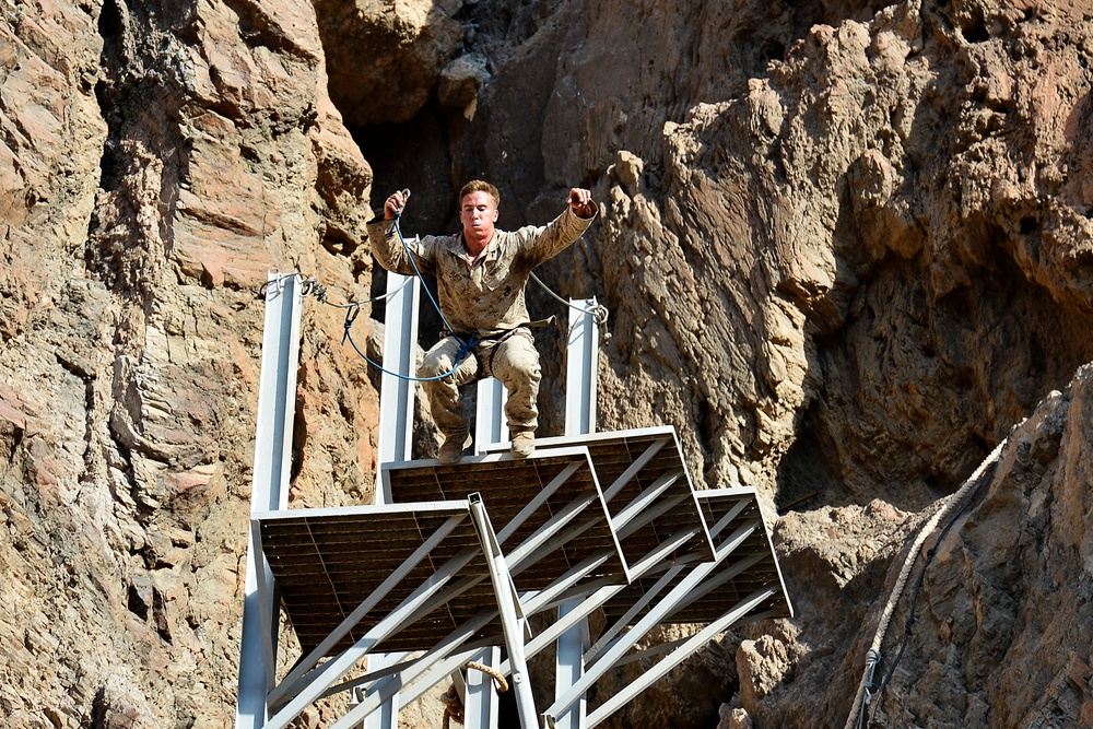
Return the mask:
{"type": "Polygon", "coordinates": [[[534,267],[571,246],[591,223],[597,213],[591,193],[574,188],[568,207],[549,225],[507,233],[494,227],[501,204],[497,188],[473,180],[459,191],[462,233],[414,238],[407,240],[407,248],[391,225],[404,204],[402,192],[387,198],[384,219],[368,223],[368,237],[376,260],[388,271],[416,273],[409,248],[418,269],[436,277],[440,313],[453,331],[425,354],[418,376],[451,372],[423,383],[433,420],[444,434],[439,459],[455,463],[469,445],[459,386],[482,376],[496,377],[508,390],[505,415],[512,452],[526,458],[534,450],[541,374],[534,338],[527,327],[530,317],[524,289],[534,267]]]}

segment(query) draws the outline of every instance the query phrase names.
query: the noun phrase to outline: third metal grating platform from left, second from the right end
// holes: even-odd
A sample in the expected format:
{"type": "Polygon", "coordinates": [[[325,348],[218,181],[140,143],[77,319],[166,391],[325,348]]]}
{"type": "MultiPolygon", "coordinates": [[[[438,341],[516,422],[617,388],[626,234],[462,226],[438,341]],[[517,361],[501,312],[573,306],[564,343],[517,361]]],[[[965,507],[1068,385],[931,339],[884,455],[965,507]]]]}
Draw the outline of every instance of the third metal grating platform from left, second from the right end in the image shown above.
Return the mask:
{"type": "MultiPolygon", "coordinates": [[[[650,555],[659,563],[714,558],[674,427],[536,440],[539,452],[573,446],[588,449],[628,566],[642,565],[650,555]],[[670,551],[661,549],[672,543],[670,551]]],[[[487,451],[506,448],[502,444],[487,451]]]]}

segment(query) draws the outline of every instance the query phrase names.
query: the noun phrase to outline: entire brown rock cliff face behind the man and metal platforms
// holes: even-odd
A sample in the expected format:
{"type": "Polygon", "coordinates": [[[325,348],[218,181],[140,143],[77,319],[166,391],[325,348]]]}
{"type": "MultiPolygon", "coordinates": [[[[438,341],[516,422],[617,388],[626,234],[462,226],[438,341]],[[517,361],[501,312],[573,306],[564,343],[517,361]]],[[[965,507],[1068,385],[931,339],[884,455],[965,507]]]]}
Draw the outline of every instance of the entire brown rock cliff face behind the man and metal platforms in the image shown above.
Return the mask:
{"type": "MultiPolygon", "coordinates": [[[[674,424],[783,515],[798,618],[619,726],[839,726],[921,512],[1007,436],[872,719],[1093,721],[1093,4],[26,0],[0,50],[0,724],[232,724],[256,292],[365,301],[372,201],[450,230],[477,176],[505,227],[601,203],[541,271],[611,310],[599,428],[674,424]]],[[[305,306],[295,506],[373,495],[342,316],[305,306]]]]}

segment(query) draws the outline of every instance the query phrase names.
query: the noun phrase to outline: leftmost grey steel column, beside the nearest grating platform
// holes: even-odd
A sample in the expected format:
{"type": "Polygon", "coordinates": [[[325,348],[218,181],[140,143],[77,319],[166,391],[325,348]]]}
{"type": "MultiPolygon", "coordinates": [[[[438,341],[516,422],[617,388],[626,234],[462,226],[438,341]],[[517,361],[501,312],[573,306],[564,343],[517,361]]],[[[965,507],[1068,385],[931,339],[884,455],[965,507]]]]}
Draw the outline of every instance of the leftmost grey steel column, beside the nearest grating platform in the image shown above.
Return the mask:
{"type": "MultiPolygon", "coordinates": [[[[289,502],[292,420],[296,403],[299,361],[301,282],[294,274],[270,273],[266,283],[266,325],[262,330],[262,369],[258,386],[255,466],[250,513],[283,509],[289,502]]],[[[274,596],[259,591],[259,580],[272,583],[269,564],[248,527],[247,581],[243,603],[243,645],[239,649],[239,701],[236,729],[257,729],[269,718],[266,697],[277,669],[274,596]],[[263,630],[268,626],[268,631],[263,630]]]]}

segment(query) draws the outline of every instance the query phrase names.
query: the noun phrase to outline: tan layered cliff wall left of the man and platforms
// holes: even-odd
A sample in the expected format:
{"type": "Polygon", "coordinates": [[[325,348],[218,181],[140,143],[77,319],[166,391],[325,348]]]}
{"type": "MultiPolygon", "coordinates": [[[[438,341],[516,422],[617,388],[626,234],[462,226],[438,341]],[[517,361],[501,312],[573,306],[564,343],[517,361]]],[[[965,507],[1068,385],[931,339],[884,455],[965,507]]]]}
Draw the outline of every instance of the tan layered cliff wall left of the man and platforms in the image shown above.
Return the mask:
{"type": "MultiPolygon", "coordinates": [[[[296,267],[331,297],[367,291],[353,254],[371,172],[327,97],[308,3],[50,1],[0,19],[0,714],[222,726],[256,292],[296,267]]],[[[375,393],[331,346],[340,315],[309,307],[306,330],[294,497],[359,501],[375,393]]]]}

